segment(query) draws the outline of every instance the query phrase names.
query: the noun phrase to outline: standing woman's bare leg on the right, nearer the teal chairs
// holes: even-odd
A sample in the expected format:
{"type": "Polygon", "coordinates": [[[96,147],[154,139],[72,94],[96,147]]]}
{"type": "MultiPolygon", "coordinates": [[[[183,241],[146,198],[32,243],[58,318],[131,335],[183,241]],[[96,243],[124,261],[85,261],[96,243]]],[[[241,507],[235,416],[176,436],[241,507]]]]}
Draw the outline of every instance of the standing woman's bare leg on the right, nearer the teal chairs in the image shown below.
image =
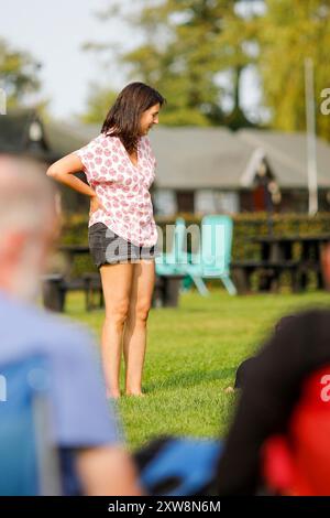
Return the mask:
{"type": "Polygon", "coordinates": [[[125,391],[130,396],[142,395],[142,371],[146,346],[146,321],[152,304],[155,283],[154,260],[134,265],[129,315],[123,335],[125,360],[125,391]]]}

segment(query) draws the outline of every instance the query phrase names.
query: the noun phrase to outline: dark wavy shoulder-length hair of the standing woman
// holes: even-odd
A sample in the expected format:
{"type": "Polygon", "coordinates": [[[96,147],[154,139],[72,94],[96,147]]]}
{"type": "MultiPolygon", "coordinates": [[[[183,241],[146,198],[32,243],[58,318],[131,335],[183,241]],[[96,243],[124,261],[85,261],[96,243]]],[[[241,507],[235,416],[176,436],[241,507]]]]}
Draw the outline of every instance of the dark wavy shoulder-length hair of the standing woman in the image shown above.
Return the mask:
{"type": "Polygon", "coordinates": [[[140,119],[152,106],[163,106],[165,98],[144,83],[131,83],[117,97],[103,122],[101,133],[119,137],[129,153],[138,148],[140,119]]]}

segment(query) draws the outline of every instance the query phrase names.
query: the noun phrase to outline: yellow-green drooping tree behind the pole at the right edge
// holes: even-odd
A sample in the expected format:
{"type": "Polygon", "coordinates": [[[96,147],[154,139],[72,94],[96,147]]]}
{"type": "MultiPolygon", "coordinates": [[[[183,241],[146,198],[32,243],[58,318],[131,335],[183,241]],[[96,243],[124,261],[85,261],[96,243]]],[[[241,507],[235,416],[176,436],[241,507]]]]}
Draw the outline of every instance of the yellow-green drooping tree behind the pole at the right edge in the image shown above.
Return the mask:
{"type": "MultiPolygon", "coordinates": [[[[305,130],[305,77],[307,57],[315,65],[316,105],[330,77],[329,0],[266,0],[266,12],[256,21],[258,68],[272,126],[305,130]]],[[[330,140],[330,117],[317,110],[318,133],[330,140]]]]}

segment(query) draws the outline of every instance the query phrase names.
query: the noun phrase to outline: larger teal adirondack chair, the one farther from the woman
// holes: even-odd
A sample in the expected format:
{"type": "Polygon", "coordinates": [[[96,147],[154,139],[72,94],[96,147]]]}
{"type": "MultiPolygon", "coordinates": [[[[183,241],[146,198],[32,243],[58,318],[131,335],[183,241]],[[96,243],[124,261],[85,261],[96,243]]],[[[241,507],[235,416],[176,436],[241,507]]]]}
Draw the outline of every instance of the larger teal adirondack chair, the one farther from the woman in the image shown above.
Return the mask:
{"type": "Polygon", "coordinates": [[[226,215],[209,215],[201,220],[201,242],[197,253],[190,255],[186,273],[194,280],[199,293],[208,295],[204,279],[220,279],[231,295],[237,289],[230,278],[233,223],[226,215]]]}

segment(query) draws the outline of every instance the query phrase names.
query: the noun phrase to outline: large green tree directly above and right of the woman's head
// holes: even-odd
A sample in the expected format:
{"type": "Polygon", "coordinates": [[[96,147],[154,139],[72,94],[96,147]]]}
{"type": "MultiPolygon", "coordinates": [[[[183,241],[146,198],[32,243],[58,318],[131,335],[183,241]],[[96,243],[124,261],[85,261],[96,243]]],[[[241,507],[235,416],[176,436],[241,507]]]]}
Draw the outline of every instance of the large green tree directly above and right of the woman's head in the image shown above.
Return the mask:
{"type": "MultiPolygon", "coordinates": [[[[253,62],[245,45],[250,37],[239,0],[148,0],[134,2],[127,15],[131,26],[142,30],[144,43],[122,62],[130,77],[160,89],[168,100],[162,122],[170,125],[250,126],[240,106],[242,71],[253,62]],[[223,87],[219,75],[229,72],[232,112],[223,112],[223,87]]],[[[125,2],[111,2],[103,13],[123,15],[125,2]]]]}

